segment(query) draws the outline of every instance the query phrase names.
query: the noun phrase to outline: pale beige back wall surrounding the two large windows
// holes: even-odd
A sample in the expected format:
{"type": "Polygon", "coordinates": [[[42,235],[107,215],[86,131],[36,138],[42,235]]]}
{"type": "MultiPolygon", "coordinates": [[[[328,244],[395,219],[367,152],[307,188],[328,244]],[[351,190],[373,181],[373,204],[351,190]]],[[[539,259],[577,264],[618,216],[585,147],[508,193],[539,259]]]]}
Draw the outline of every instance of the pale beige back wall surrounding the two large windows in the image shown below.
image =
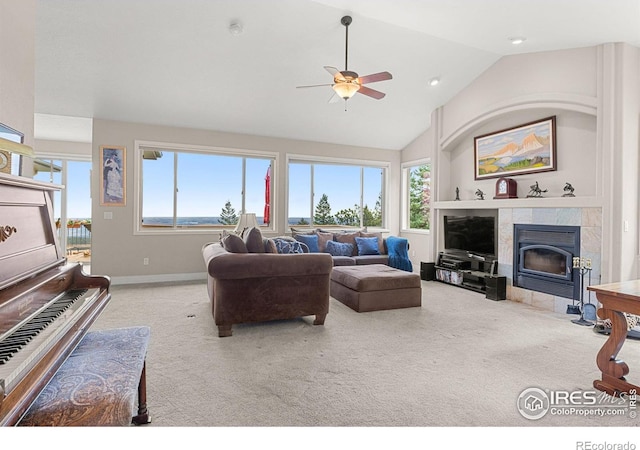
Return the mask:
{"type": "Polygon", "coordinates": [[[114,283],[194,279],[204,277],[202,245],[219,240],[218,233],[181,235],[134,235],[135,211],[133,195],[137,182],[134,172],[134,141],[155,141],[222,147],[242,150],[261,150],[279,154],[275,177],[272,179],[274,194],[275,234],[286,230],[286,155],[317,155],[335,158],[388,161],[389,203],[387,205],[390,233],[399,231],[400,152],[362,147],[321,144],[252,135],[222,133],[165,126],[125,123],[95,119],[93,122],[93,173],[99,173],[99,149],[102,145],[124,146],[126,154],[126,206],[100,206],[99,180],[92,180],[92,252],[91,272],[109,275],[114,283]],[[105,220],[104,213],[111,212],[113,219],[105,220]],[[142,264],[149,258],[150,264],[142,264]]]}

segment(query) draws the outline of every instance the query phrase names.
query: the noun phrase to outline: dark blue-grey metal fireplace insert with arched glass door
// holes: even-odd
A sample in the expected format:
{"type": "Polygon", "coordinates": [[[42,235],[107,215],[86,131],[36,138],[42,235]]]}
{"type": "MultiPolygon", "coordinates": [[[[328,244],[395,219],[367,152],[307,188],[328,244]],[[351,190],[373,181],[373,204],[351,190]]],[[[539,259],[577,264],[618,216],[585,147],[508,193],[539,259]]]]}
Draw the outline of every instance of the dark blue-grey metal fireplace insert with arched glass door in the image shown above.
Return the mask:
{"type": "Polygon", "coordinates": [[[580,256],[580,227],[514,224],[513,285],[559,297],[580,296],[573,258],[580,256]]]}

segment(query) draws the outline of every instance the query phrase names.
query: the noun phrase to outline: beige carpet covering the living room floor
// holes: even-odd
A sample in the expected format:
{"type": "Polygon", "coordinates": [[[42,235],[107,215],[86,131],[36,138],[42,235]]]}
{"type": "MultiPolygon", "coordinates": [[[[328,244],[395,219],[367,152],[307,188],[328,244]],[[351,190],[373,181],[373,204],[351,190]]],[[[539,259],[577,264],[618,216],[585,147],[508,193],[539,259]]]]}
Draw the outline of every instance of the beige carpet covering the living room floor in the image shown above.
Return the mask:
{"type": "MultiPolygon", "coordinates": [[[[151,427],[637,426],[622,417],[523,418],[526,388],[593,390],[605,337],[438,282],[422,307],[234,326],[218,338],[204,283],[114,286],[94,329],[148,325],[151,427]]],[[[640,370],[640,341],[620,352],[640,370]]],[[[629,378],[638,383],[638,379],[629,378]]]]}

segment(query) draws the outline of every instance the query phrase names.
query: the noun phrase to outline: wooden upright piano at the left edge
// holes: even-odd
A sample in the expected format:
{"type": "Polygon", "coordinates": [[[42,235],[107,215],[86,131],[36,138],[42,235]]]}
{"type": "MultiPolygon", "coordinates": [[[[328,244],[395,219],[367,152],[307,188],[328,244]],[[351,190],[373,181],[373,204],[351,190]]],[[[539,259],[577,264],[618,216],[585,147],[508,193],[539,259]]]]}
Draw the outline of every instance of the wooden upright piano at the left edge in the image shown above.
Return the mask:
{"type": "Polygon", "coordinates": [[[16,425],[105,308],[106,276],[60,246],[61,186],[0,174],[0,425],[16,425]]]}

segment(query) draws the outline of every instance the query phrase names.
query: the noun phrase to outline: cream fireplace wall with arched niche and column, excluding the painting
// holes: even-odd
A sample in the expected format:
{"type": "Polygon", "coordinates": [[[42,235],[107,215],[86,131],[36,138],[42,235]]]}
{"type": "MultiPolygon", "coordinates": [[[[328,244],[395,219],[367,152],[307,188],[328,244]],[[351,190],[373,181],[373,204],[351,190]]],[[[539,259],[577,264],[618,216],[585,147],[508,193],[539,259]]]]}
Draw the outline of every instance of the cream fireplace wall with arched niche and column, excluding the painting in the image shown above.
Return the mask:
{"type": "Polygon", "coordinates": [[[504,57],[436,110],[431,128],[402,154],[403,162],[420,152],[434,161],[434,228],[423,238],[429,243],[414,245],[426,251],[417,259],[434,260],[442,215],[438,202],[453,200],[456,187],[463,200],[473,200],[476,189],[493,196],[495,180],[474,179],[474,136],[556,116],[557,171],[515,177],[518,196],[525,197],[538,181],[547,196],[560,197],[570,182],[576,196],[596,199],[603,205],[603,281],[635,278],[640,253],[638,58],[639,50],[627,44],[504,57]],[[627,223],[629,231],[623,231],[627,223]]]}

